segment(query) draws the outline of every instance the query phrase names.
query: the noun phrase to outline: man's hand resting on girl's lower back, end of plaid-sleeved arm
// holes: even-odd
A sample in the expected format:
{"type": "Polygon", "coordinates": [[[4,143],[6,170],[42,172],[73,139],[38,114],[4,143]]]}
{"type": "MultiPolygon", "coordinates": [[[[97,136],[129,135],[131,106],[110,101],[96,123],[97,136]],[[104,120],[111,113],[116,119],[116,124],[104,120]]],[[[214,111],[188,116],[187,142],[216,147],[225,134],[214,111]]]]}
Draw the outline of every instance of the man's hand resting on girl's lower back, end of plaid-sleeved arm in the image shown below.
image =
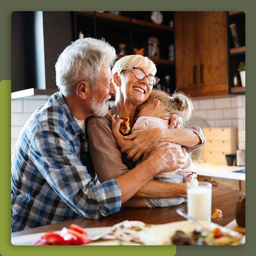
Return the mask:
{"type": "MultiPolygon", "coordinates": [[[[166,145],[168,145],[166,143],[166,145]]],[[[168,148],[162,145],[154,149],[148,157],[148,160],[153,160],[152,166],[157,166],[160,172],[168,172],[178,168],[183,169],[185,164],[185,157],[179,148],[168,148]]]]}

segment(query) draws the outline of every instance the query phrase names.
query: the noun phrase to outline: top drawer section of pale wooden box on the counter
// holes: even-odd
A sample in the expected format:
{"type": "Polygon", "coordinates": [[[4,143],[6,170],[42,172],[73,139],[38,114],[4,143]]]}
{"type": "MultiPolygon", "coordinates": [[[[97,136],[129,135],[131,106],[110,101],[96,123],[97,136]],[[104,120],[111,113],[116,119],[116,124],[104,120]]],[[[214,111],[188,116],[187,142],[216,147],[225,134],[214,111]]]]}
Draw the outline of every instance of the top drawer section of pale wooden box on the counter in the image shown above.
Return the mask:
{"type": "Polygon", "coordinates": [[[228,154],[236,153],[236,143],[228,140],[207,140],[204,145],[206,151],[222,151],[228,154]]]}

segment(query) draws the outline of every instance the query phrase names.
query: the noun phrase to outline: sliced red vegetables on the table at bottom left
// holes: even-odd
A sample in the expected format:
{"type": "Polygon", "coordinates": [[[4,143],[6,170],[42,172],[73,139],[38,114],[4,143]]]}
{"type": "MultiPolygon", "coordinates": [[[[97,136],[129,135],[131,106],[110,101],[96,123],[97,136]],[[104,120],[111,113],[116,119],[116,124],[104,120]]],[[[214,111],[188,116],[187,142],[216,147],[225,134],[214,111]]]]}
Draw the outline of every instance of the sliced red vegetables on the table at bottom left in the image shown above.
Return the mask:
{"type": "Polygon", "coordinates": [[[70,228],[64,227],[61,233],[45,233],[34,245],[81,245],[90,243],[86,231],[76,225],[71,224],[70,228]]]}

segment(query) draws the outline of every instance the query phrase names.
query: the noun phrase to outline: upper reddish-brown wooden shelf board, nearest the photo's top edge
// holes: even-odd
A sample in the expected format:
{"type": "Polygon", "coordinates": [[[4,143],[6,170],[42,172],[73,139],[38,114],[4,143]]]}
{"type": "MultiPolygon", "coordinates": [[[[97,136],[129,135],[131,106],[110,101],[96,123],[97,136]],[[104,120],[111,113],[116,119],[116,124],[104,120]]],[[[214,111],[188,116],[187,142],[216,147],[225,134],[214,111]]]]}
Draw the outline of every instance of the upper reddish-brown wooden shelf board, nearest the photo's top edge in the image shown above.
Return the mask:
{"type": "Polygon", "coordinates": [[[86,14],[88,16],[96,15],[96,17],[99,17],[99,18],[106,18],[109,20],[122,21],[122,22],[126,22],[126,23],[131,22],[134,25],[146,26],[146,27],[151,27],[151,28],[155,28],[155,29],[163,29],[166,31],[174,30],[173,27],[170,27],[170,26],[159,25],[159,24],[155,24],[153,22],[148,22],[148,21],[144,21],[144,20],[130,19],[128,17],[124,17],[121,15],[114,15],[114,14],[106,13],[106,12],[77,11],[76,13],[82,13],[82,14],[86,14]]]}

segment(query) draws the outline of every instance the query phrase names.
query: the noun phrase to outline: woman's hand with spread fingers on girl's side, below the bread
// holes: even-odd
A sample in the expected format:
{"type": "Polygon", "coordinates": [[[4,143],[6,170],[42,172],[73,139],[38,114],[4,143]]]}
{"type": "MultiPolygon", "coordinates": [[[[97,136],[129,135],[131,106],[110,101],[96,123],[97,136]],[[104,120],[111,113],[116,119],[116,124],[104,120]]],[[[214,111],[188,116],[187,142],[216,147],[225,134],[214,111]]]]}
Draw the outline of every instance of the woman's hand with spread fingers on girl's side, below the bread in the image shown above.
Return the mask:
{"type": "Polygon", "coordinates": [[[128,159],[136,162],[143,155],[143,160],[148,158],[151,151],[156,148],[162,138],[162,130],[155,128],[148,131],[138,131],[137,133],[125,136],[125,140],[132,140],[122,147],[121,152],[126,153],[128,159]]]}

